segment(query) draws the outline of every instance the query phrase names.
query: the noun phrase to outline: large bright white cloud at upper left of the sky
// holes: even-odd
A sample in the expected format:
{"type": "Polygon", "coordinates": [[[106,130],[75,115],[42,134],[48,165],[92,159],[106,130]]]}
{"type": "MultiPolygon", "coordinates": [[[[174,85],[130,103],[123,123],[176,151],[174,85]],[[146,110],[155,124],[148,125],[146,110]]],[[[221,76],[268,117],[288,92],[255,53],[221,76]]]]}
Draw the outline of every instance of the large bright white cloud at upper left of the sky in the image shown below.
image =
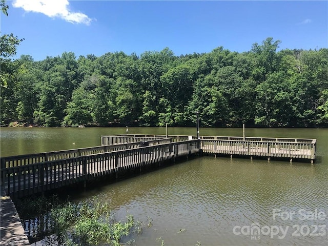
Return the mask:
{"type": "Polygon", "coordinates": [[[86,14],[71,12],[68,0],[15,0],[12,5],[15,8],[23,8],[27,12],[43,13],[70,23],[90,25],[92,20],[86,14]]]}

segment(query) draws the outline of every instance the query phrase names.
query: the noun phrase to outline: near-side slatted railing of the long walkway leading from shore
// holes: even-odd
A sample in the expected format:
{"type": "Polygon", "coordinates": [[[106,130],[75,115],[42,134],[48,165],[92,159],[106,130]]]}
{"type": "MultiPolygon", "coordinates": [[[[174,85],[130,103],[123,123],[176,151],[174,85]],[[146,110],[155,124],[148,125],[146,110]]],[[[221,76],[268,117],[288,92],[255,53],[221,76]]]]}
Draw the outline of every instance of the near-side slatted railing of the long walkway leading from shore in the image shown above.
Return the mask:
{"type": "MultiPolygon", "coordinates": [[[[158,141],[158,140],[157,140],[158,141]]],[[[7,194],[26,196],[121,170],[199,153],[200,141],[169,142],[15,166],[1,170],[7,194]]]]}

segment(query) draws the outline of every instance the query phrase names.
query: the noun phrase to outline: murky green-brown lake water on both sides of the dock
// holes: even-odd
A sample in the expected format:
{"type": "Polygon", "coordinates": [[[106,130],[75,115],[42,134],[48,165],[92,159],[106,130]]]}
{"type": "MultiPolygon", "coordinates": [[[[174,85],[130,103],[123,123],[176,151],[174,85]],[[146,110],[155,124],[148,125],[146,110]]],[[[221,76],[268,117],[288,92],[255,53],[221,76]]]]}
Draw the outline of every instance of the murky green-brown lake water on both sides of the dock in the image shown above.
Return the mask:
{"type": "MultiPolygon", "coordinates": [[[[1,156],[100,145],[126,128],[1,128],[1,156]],[[74,143],[74,144],[73,144],[74,143]]],[[[129,128],[165,134],[165,128],[129,128]]],[[[169,128],[195,135],[195,128],[169,128]]],[[[239,128],[200,135],[242,136],[239,128]]],[[[132,245],[327,245],[328,129],[246,129],[246,136],[316,138],[316,163],[200,157],[126,180],[82,190],[74,201],[109,202],[153,227],[132,245]],[[256,234],[257,233],[257,234],[256,234]],[[161,238],[160,240],[156,240],[161,238]]]]}

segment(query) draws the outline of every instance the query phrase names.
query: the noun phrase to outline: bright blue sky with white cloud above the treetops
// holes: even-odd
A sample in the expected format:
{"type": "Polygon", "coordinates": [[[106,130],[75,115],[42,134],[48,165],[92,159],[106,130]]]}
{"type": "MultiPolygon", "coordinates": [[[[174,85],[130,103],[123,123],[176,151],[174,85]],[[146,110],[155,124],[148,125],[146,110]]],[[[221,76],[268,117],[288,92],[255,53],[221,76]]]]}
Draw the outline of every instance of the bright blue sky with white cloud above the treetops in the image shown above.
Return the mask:
{"type": "Polygon", "coordinates": [[[249,51],[267,37],[280,49],[328,48],[327,1],[7,1],[1,33],[25,40],[18,58],[72,51],[137,55],[169,47],[175,55],[219,46],[249,51]]]}

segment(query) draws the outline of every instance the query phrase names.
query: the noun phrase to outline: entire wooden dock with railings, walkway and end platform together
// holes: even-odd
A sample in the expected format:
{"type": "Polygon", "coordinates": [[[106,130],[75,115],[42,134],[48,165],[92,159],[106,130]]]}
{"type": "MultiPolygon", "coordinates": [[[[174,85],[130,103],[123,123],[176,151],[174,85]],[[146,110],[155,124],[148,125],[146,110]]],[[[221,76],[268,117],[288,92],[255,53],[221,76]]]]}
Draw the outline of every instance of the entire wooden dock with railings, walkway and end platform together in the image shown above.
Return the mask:
{"type": "Polygon", "coordinates": [[[222,136],[101,136],[101,146],[1,158],[2,187],[10,196],[27,196],[176,157],[229,155],[315,159],[316,139],[222,136]],[[147,144],[140,147],[141,143],[147,144]]]}

